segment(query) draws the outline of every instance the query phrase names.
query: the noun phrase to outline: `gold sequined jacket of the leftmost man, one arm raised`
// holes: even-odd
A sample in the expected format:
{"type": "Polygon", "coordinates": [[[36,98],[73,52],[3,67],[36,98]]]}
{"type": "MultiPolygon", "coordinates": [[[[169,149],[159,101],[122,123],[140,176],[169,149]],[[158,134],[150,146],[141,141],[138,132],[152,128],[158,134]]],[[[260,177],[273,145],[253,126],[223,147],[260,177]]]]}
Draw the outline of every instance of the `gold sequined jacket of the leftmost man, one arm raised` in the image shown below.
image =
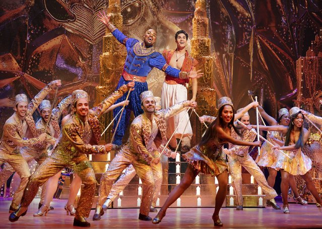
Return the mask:
{"type": "Polygon", "coordinates": [[[32,114],[50,91],[51,87],[50,85],[47,85],[28,104],[28,109],[24,119],[26,122],[25,124],[19,119],[16,112],[7,119],[3,128],[4,132],[0,140],[1,151],[6,152],[7,154],[18,154],[20,152],[19,147],[33,145],[39,141],[32,114]],[[32,138],[24,139],[24,137],[29,136],[32,138]]]}

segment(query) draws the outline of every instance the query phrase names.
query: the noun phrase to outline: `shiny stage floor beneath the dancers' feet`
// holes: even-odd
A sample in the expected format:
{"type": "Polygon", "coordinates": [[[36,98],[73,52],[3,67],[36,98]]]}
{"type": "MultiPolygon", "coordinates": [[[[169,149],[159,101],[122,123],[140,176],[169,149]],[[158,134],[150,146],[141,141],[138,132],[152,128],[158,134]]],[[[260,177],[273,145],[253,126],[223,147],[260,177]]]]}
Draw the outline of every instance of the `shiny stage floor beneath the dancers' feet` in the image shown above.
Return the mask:
{"type": "MultiPolygon", "coordinates": [[[[35,199],[29,206],[28,213],[20,217],[17,222],[10,222],[10,198],[0,198],[0,228],[72,228],[74,216],[66,215],[63,209],[67,200],[54,199],[47,216],[34,217],[39,199],[35,199]]],[[[159,210],[159,209],[158,209],[159,210]]],[[[267,208],[222,208],[220,219],[224,227],[228,228],[312,228],[322,227],[322,209],[315,204],[290,204],[290,214],[282,210],[267,208]]],[[[101,220],[93,221],[94,210],[88,221],[92,228],[213,228],[211,216],[213,208],[169,208],[166,217],[160,224],[151,221],[138,220],[139,209],[108,209],[101,220]]],[[[150,213],[153,218],[156,213],[150,213]]],[[[74,227],[76,228],[76,227],[74,227]]],[[[80,228],[80,227],[78,227],[80,228]]]]}

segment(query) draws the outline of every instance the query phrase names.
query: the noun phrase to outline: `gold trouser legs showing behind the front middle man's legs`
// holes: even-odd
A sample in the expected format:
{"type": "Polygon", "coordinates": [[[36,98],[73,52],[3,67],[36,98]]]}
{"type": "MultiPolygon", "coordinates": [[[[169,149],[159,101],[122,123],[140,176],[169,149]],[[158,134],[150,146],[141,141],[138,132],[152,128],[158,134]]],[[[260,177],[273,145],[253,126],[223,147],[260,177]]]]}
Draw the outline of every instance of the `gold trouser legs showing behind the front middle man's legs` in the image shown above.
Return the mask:
{"type": "MultiPolygon", "coordinates": [[[[161,185],[162,185],[162,163],[158,164],[151,164],[151,169],[153,171],[153,179],[155,184],[155,190],[152,197],[152,206],[155,207],[159,193],[161,191],[161,185]]],[[[130,165],[126,168],[125,173],[122,174],[117,181],[113,184],[111,191],[108,194],[108,199],[111,201],[114,201],[114,199],[117,197],[117,195],[123,191],[123,189],[130,183],[130,181],[135,177],[136,171],[133,167],[133,165],[130,165]]]]}

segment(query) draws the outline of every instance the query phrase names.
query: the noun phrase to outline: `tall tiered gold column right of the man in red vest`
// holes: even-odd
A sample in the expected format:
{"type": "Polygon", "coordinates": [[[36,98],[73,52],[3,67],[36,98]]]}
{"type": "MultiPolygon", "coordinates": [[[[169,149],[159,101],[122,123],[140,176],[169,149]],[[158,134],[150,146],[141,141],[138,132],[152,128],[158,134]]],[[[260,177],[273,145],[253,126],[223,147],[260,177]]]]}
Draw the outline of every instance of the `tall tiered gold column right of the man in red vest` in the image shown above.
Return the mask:
{"type": "MultiPolygon", "coordinates": [[[[212,115],[216,113],[216,92],[212,88],[213,85],[213,61],[210,55],[209,38],[209,19],[206,12],[206,0],[197,0],[195,16],[192,19],[192,39],[191,39],[191,55],[198,60],[198,69],[202,69],[204,76],[198,79],[197,92],[197,112],[199,115],[212,115]]],[[[191,93],[191,90],[189,91],[191,93]]],[[[192,145],[198,143],[201,135],[205,131],[198,117],[191,116],[192,145]]]]}

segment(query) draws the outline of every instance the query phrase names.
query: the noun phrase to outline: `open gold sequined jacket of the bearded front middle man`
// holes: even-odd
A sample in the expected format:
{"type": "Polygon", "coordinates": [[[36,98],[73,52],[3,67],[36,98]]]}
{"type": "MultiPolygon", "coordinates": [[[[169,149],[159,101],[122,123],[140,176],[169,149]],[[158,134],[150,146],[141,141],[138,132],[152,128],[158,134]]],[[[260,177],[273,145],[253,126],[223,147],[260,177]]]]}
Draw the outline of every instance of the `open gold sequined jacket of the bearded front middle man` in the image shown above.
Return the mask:
{"type": "MultiPolygon", "coordinates": [[[[163,109],[160,111],[155,111],[154,119],[158,125],[159,131],[161,133],[161,144],[158,147],[158,150],[153,152],[154,156],[158,156],[164,145],[167,143],[166,131],[167,131],[167,123],[166,120],[181,112],[182,109],[188,106],[187,101],[182,101],[180,103],[175,104],[174,106],[163,109]]],[[[154,159],[151,152],[146,148],[146,143],[149,142],[151,137],[151,121],[145,116],[145,114],[141,114],[136,117],[131,126],[130,126],[130,138],[127,142],[127,145],[130,147],[130,151],[133,154],[137,154],[140,157],[141,161],[146,161],[148,164],[152,162],[154,159]]],[[[167,157],[170,156],[171,151],[169,149],[165,149],[164,153],[167,157]]]]}

